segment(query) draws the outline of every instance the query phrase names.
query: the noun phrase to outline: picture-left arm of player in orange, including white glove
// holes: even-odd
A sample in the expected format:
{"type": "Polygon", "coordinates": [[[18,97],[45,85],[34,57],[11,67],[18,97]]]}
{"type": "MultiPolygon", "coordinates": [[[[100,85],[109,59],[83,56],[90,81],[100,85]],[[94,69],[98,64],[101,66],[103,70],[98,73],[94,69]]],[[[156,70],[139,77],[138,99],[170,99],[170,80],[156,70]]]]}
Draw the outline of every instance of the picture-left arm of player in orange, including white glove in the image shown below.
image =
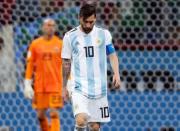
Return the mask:
{"type": "Polygon", "coordinates": [[[34,52],[32,44],[29,47],[27,58],[26,58],[26,70],[25,70],[25,80],[24,80],[24,96],[28,99],[32,99],[34,91],[32,88],[32,75],[34,69],[34,52]]]}

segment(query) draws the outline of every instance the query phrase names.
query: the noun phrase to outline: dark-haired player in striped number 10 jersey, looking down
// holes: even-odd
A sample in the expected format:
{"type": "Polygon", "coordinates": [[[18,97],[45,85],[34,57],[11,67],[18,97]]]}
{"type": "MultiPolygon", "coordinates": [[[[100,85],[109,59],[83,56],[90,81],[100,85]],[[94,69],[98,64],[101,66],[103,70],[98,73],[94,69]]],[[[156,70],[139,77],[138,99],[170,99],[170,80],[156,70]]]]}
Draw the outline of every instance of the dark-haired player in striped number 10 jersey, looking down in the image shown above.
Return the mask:
{"type": "Polygon", "coordinates": [[[120,87],[119,63],[110,32],[95,25],[95,4],[84,4],[79,20],[80,25],[63,38],[63,96],[71,98],[75,131],[99,131],[100,123],[110,121],[107,56],[114,73],[114,88],[120,87]]]}

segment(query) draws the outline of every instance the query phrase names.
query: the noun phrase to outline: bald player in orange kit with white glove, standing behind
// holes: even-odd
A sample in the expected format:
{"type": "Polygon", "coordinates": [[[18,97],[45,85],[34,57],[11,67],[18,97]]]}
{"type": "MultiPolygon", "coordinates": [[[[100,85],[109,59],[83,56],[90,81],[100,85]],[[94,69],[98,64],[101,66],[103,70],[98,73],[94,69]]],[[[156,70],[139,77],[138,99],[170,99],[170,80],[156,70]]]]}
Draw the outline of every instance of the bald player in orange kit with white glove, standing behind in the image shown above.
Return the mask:
{"type": "Polygon", "coordinates": [[[32,99],[42,131],[60,131],[58,109],[63,106],[62,40],[54,35],[55,26],[53,19],[45,19],[43,35],[32,41],[27,54],[24,96],[32,99]],[[50,109],[50,123],[47,109],[50,109]]]}

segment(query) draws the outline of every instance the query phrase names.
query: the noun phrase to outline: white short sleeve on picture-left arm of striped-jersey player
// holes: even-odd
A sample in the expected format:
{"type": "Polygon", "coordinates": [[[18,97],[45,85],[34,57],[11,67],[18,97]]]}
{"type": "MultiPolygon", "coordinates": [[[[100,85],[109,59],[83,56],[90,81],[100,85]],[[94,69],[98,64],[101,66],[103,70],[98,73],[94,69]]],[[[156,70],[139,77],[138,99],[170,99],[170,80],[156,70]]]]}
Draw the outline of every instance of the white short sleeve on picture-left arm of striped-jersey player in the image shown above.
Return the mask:
{"type": "Polygon", "coordinates": [[[61,57],[65,59],[71,59],[71,43],[67,34],[65,34],[63,38],[61,57]]]}

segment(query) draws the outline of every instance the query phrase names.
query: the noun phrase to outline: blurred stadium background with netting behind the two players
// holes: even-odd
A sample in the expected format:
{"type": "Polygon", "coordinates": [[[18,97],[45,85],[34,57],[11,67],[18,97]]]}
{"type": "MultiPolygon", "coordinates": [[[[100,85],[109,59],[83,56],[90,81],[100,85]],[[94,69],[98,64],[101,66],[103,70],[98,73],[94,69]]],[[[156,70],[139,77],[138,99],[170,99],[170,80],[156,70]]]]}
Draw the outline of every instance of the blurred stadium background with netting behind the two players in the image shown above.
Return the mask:
{"type": "MultiPolygon", "coordinates": [[[[39,130],[22,93],[26,51],[44,18],[56,20],[61,38],[78,25],[80,4],[0,0],[0,131],[39,130]]],[[[112,121],[102,130],[180,131],[180,0],[98,0],[97,24],[113,35],[122,80],[110,90],[112,121]]],[[[62,131],[73,130],[71,105],[60,112],[62,131]]]]}

